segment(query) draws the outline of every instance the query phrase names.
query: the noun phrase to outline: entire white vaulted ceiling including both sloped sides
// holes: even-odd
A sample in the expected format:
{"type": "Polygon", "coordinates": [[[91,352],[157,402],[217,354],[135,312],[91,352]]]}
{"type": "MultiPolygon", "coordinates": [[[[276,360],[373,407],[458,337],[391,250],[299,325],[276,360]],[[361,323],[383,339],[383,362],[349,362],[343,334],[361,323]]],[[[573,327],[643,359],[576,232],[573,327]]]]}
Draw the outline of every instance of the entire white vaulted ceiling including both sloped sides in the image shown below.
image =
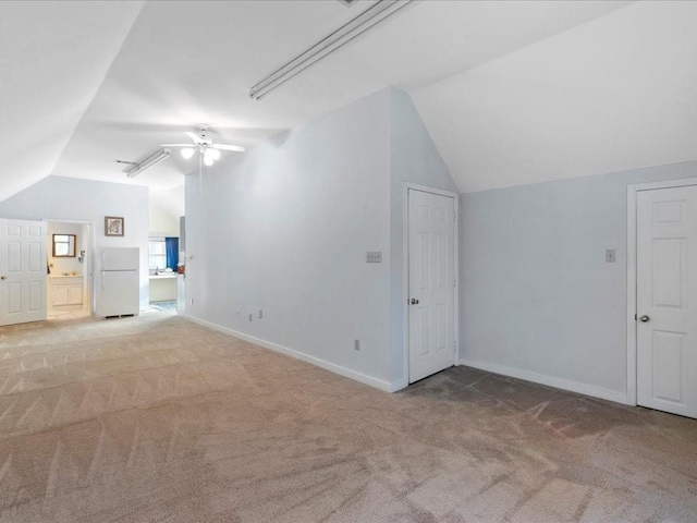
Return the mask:
{"type": "Polygon", "coordinates": [[[693,159],[693,2],[413,2],[248,98],[369,4],[0,2],[0,199],[54,174],[148,185],[175,214],[189,162],[126,180],[114,160],[200,122],[249,147],[387,85],[412,94],[463,191],[693,159]]]}

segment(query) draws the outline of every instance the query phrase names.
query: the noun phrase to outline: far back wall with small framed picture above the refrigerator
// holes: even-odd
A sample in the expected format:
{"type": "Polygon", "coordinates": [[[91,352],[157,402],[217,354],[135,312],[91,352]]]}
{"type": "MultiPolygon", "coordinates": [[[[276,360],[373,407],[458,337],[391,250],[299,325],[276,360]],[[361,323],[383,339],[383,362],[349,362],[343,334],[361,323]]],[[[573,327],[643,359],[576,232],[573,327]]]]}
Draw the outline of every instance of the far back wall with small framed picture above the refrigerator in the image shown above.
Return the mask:
{"type": "Polygon", "coordinates": [[[95,251],[140,248],[140,308],[148,306],[148,190],[120,183],[48,177],[0,202],[0,217],[86,220],[95,224],[95,251]],[[124,217],[124,236],[105,236],[105,216],[124,217]]]}

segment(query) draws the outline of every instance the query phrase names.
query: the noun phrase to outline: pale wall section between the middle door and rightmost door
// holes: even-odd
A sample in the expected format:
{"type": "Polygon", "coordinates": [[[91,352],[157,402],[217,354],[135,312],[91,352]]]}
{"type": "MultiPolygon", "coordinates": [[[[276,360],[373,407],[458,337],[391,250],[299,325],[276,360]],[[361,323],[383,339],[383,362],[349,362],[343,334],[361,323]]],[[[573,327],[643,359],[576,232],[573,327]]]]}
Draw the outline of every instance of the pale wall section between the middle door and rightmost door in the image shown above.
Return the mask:
{"type": "Polygon", "coordinates": [[[689,177],[697,162],[463,194],[465,363],[624,401],[626,186],[689,177]]]}

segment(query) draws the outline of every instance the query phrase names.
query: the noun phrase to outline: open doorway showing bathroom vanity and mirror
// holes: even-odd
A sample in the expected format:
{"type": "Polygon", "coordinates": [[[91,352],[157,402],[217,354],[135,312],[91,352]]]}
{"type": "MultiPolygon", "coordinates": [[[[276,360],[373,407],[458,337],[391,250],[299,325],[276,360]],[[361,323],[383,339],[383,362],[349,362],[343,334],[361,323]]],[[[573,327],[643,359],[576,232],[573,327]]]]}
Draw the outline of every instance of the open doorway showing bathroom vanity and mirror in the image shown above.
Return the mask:
{"type": "Polygon", "coordinates": [[[47,319],[91,316],[91,223],[48,221],[46,253],[47,319]]]}

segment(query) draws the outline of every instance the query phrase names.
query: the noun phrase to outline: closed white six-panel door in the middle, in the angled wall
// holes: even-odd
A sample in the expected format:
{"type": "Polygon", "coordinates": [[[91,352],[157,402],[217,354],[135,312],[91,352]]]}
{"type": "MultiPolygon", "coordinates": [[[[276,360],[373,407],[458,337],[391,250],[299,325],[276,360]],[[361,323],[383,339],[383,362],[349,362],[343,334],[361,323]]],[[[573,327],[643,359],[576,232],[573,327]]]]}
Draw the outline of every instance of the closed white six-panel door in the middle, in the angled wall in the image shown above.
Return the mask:
{"type": "Polygon", "coordinates": [[[455,200],[408,191],[409,384],[455,364],[455,200]]]}

